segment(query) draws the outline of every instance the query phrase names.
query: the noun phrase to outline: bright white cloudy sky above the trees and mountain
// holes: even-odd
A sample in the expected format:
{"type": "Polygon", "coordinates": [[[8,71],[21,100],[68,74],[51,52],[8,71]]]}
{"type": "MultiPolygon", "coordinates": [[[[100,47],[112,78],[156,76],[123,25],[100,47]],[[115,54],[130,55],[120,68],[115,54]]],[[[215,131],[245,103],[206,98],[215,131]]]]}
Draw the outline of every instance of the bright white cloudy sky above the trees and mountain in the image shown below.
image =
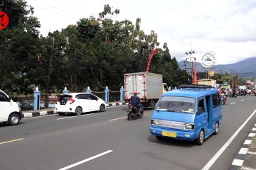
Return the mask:
{"type": "Polygon", "coordinates": [[[146,34],[154,30],[160,47],[167,43],[171,57],[186,60],[185,52],[201,62],[203,52],[213,51],[216,64],[230,64],[256,57],[255,0],[26,0],[41,23],[40,33],[61,30],[80,18],[98,17],[105,4],[118,8],[113,20],[141,18],[146,34]]]}

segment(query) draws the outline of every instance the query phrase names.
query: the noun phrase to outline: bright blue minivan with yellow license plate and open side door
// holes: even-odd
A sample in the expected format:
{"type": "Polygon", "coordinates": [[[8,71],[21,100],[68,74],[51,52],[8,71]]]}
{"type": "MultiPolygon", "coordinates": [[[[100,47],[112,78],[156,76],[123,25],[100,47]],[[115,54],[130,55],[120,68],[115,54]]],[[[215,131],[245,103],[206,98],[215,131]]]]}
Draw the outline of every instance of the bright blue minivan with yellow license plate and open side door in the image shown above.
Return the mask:
{"type": "Polygon", "coordinates": [[[151,116],[151,135],[195,140],[197,145],[217,135],[222,120],[218,90],[206,85],[181,85],[161,96],[151,116]]]}

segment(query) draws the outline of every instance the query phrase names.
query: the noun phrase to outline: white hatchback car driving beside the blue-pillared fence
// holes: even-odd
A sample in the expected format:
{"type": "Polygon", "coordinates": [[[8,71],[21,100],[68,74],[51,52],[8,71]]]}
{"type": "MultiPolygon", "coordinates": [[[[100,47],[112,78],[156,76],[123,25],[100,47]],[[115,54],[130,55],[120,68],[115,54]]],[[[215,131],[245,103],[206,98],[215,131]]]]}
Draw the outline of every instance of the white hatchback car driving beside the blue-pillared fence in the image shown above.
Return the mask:
{"type": "Polygon", "coordinates": [[[58,98],[55,111],[59,115],[75,113],[81,115],[91,111],[106,111],[106,103],[101,98],[87,93],[62,94],[58,98]]]}

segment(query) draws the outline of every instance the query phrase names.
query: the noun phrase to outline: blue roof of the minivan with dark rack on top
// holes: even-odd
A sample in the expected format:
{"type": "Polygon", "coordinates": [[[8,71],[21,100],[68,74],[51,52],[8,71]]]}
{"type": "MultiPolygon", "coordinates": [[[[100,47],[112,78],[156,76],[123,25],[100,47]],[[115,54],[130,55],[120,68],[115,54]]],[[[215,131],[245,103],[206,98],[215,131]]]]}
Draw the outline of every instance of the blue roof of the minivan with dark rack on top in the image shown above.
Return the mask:
{"type": "Polygon", "coordinates": [[[177,89],[173,91],[168,91],[164,94],[164,96],[184,96],[184,97],[192,97],[199,98],[201,96],[206,96],[208,94],[217,94],[218,90],[211,89],[195,89],[195,88],[186,88],[186,89],[177,89]]]}

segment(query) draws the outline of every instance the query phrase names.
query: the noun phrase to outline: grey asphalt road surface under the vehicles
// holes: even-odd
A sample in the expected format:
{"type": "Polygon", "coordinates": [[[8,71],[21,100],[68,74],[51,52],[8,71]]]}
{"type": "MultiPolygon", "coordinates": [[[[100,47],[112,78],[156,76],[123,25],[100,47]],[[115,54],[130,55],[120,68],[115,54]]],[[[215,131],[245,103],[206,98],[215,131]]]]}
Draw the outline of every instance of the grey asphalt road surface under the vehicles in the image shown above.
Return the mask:
{"type": "MultiPolygon", "coordinates": [[[[0,125],[0,169],[202,169],[256,109],[255,96],[228,98],[218,135],[202,146],[180,140],[158,141],[149,134],[152,111],[129,121],[127,106],[81,116],[48,115],[0,125]]],[[[230,169],[256,115],[213,162],[210,169],[230,169]]]]}

